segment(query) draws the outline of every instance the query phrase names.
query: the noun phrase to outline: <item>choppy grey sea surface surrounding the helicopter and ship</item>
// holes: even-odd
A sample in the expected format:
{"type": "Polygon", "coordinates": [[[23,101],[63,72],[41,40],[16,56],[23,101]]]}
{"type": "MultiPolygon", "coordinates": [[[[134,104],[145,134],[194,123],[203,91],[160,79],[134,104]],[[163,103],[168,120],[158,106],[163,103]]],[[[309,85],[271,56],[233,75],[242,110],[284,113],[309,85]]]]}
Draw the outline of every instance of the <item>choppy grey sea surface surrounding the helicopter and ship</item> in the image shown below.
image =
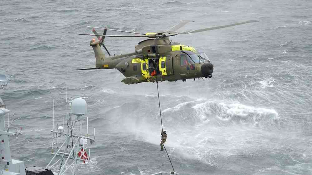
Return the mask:
{"type": "MultiPolygon", "coordinates": [[[[94,67],[85,25],[135,32],[245,24],[170,39],[205,51],[214,79],[159,83],[165,146],[180,174],[312,174],[312,1],[6,1],[0,2],[1,97],[22,117],[12,157],[26,166],[51,159],[68,98],[88,103],[96,128],[91,161],[79,174],[170,171],[159,152],[156,84],[125,85],[117,70],[94,67]]],[[[99,33],[102,31],[99,31],[99,33]]],[[[108,34],[118,35],[109,31],[108,34]]],[[[121,33],[122,34],[122,33],[121,33]]],[[[137,38],[105,38],[111,53],[134,51],[137,38]]],[[[14,129],[12,129],[14,130],[14,129]]],[[[86,131],[85,131],[86,132],[86,131]]]]}

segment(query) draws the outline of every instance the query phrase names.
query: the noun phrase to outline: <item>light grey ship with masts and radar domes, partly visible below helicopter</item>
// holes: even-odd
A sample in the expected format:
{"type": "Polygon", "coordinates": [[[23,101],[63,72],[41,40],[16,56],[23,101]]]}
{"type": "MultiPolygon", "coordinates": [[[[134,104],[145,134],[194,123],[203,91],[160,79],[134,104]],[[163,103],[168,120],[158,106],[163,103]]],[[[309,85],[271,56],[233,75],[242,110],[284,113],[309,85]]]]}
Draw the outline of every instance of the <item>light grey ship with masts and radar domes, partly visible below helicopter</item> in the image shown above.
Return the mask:
{"type": "MultiPolygon", "coordinates": [[[[7,86],[7,77],[0,75],[0,90],[7,86]]],[[[67,100],[67,98],[66,98],[67,100]]],[[[66,125],[54,128],[54,101],[53,101],[53,129],[52,136],[56,142],[51,142],[52,158],[46,167],[30,166],[25,168],[23,161],[12,159],[9,145],[9,137],[21,134],[21,130],[10,132],[10,120],[6,125],[6,115],[10,113],[0,96],[0,174],[1,175],[78,175],[76,172],[81,162],[90,161],[91,145],[95,142],[95,128],[93,135],[89,134],[87,103],[82,98],[76,98],[69,102],[71,112],[66,114],[66,125]],[[86,124],[86,125],[85,125],[86,124]],[[83,134],[83,127],[87,127],[87,133],[83,134]],[[56,146],[54,146],[56,145],[56,146]],[[52,171],[53,168],[53,171],[52,171]]],[[[11,124],[20,118],[11,121],[11,124]]],[[[64,120],[65,121],[65,120],[64,120]]],[[[85,131],[85,130],[84,130],[85,131]]],[[[178,175],[177,172],[158,172],[152,175],[178,175]]]]}

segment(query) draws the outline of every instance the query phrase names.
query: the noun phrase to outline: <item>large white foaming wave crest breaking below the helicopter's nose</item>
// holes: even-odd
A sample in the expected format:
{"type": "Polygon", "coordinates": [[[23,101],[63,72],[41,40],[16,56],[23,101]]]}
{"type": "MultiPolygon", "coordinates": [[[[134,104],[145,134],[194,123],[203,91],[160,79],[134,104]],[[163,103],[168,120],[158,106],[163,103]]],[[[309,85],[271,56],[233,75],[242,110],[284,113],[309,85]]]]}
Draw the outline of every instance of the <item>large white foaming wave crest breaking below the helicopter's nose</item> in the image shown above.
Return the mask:
{"type": "Polygon", "coordinates": [[[181,127],[180,124],[193,126],[247,124],[266,128],[269,125],[277,127],[276,125],[282,122],[279,121],[280,117],[274,109],[246,106],[239,103],[226,104],[204,99],[180,103],[173,108],[163,110],[162,113],[163,116],[170,116],[164,117],[166,123],[171,122],[179,127],[181,127]],[[176,113],[179,115],[175,115],[176,113]]]}

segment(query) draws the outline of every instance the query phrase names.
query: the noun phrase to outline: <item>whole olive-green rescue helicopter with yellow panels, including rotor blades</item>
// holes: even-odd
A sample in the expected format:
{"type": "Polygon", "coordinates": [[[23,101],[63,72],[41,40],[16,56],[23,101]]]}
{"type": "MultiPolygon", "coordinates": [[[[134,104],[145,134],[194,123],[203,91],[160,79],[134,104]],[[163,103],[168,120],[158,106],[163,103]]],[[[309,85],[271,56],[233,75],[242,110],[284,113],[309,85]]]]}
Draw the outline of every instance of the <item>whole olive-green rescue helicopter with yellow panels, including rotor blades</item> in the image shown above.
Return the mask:
{"type": "Polygon", "coordinates": [[[77,70],[92,69],[117,69],[126,78],[122,80],[125,84],[136,84],[142,82],[158,81],[177,81],[196,78],[211,78],[213,64],[207,55],[197,49],[170,41],[168,37],[203,32],[207,30],[216,30],[235,25],[241,25],[257,20],[250,20],[230,25],[222,25],[197,30],[187,30],[177,32],[178,29],[189,23],[189,20],[183,20],[166,31],[157,33],[138,33],[132,31],[115,30],[108,28],[92,27],[94,34],[78,34],[97,36],[98,41],[92,39],[90,46],[95,53],[95,67],[77,70]],[[103,35],[99,35],[95,29],[104,30],[103,35]],[[136,35],[106,35],[107,30],[132,33],[136,35]],[[105,37],[147,37],[150,39],[143,40],[135,45],[135,52],[110,56],[108,49],[104,45],[105,37]],[[101,50],[103,46],[110,57],[105,57],[101,50]]]}

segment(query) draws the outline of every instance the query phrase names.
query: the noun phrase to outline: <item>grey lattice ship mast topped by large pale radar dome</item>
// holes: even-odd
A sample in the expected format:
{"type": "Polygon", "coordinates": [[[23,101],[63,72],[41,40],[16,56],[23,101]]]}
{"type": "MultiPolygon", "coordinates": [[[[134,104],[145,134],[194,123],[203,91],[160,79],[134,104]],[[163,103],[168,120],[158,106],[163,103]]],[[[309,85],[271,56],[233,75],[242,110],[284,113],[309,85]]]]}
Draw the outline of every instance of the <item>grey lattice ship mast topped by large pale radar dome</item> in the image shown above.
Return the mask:
{"type": "Polygon", "coordinates": [[[82,98],[74,99],[70,103],[70,109],[71,112],[66,116],[67,131],[65,131],[64,127],[62,126],[59,126],[57,130],[55,130],[53,119],[53,130],[51,130],[51,133],[56,139],[57,151],[54,153],[52,142],[51,154],[54,156],[46,166],[46,169],[56,168],[55,172],[57,172],[58,175],[64,175],[65,173],[68,175],[69,172],[71,172],[70,174],[75,175],[76,167],[80,165],[79,162],[85,163],[86,161],[90,161],[90,148],[87,151],[87,145],[88,143],[92,144],[95,141],[95,136],[93,139],[89,137],[89,131],[87,131],[86,136],[82,134],[84,123],[87,124],[87,130],[89,129],[88,117],[82,117],[87,113],[87,103],[85,100],[82,98]]]}

